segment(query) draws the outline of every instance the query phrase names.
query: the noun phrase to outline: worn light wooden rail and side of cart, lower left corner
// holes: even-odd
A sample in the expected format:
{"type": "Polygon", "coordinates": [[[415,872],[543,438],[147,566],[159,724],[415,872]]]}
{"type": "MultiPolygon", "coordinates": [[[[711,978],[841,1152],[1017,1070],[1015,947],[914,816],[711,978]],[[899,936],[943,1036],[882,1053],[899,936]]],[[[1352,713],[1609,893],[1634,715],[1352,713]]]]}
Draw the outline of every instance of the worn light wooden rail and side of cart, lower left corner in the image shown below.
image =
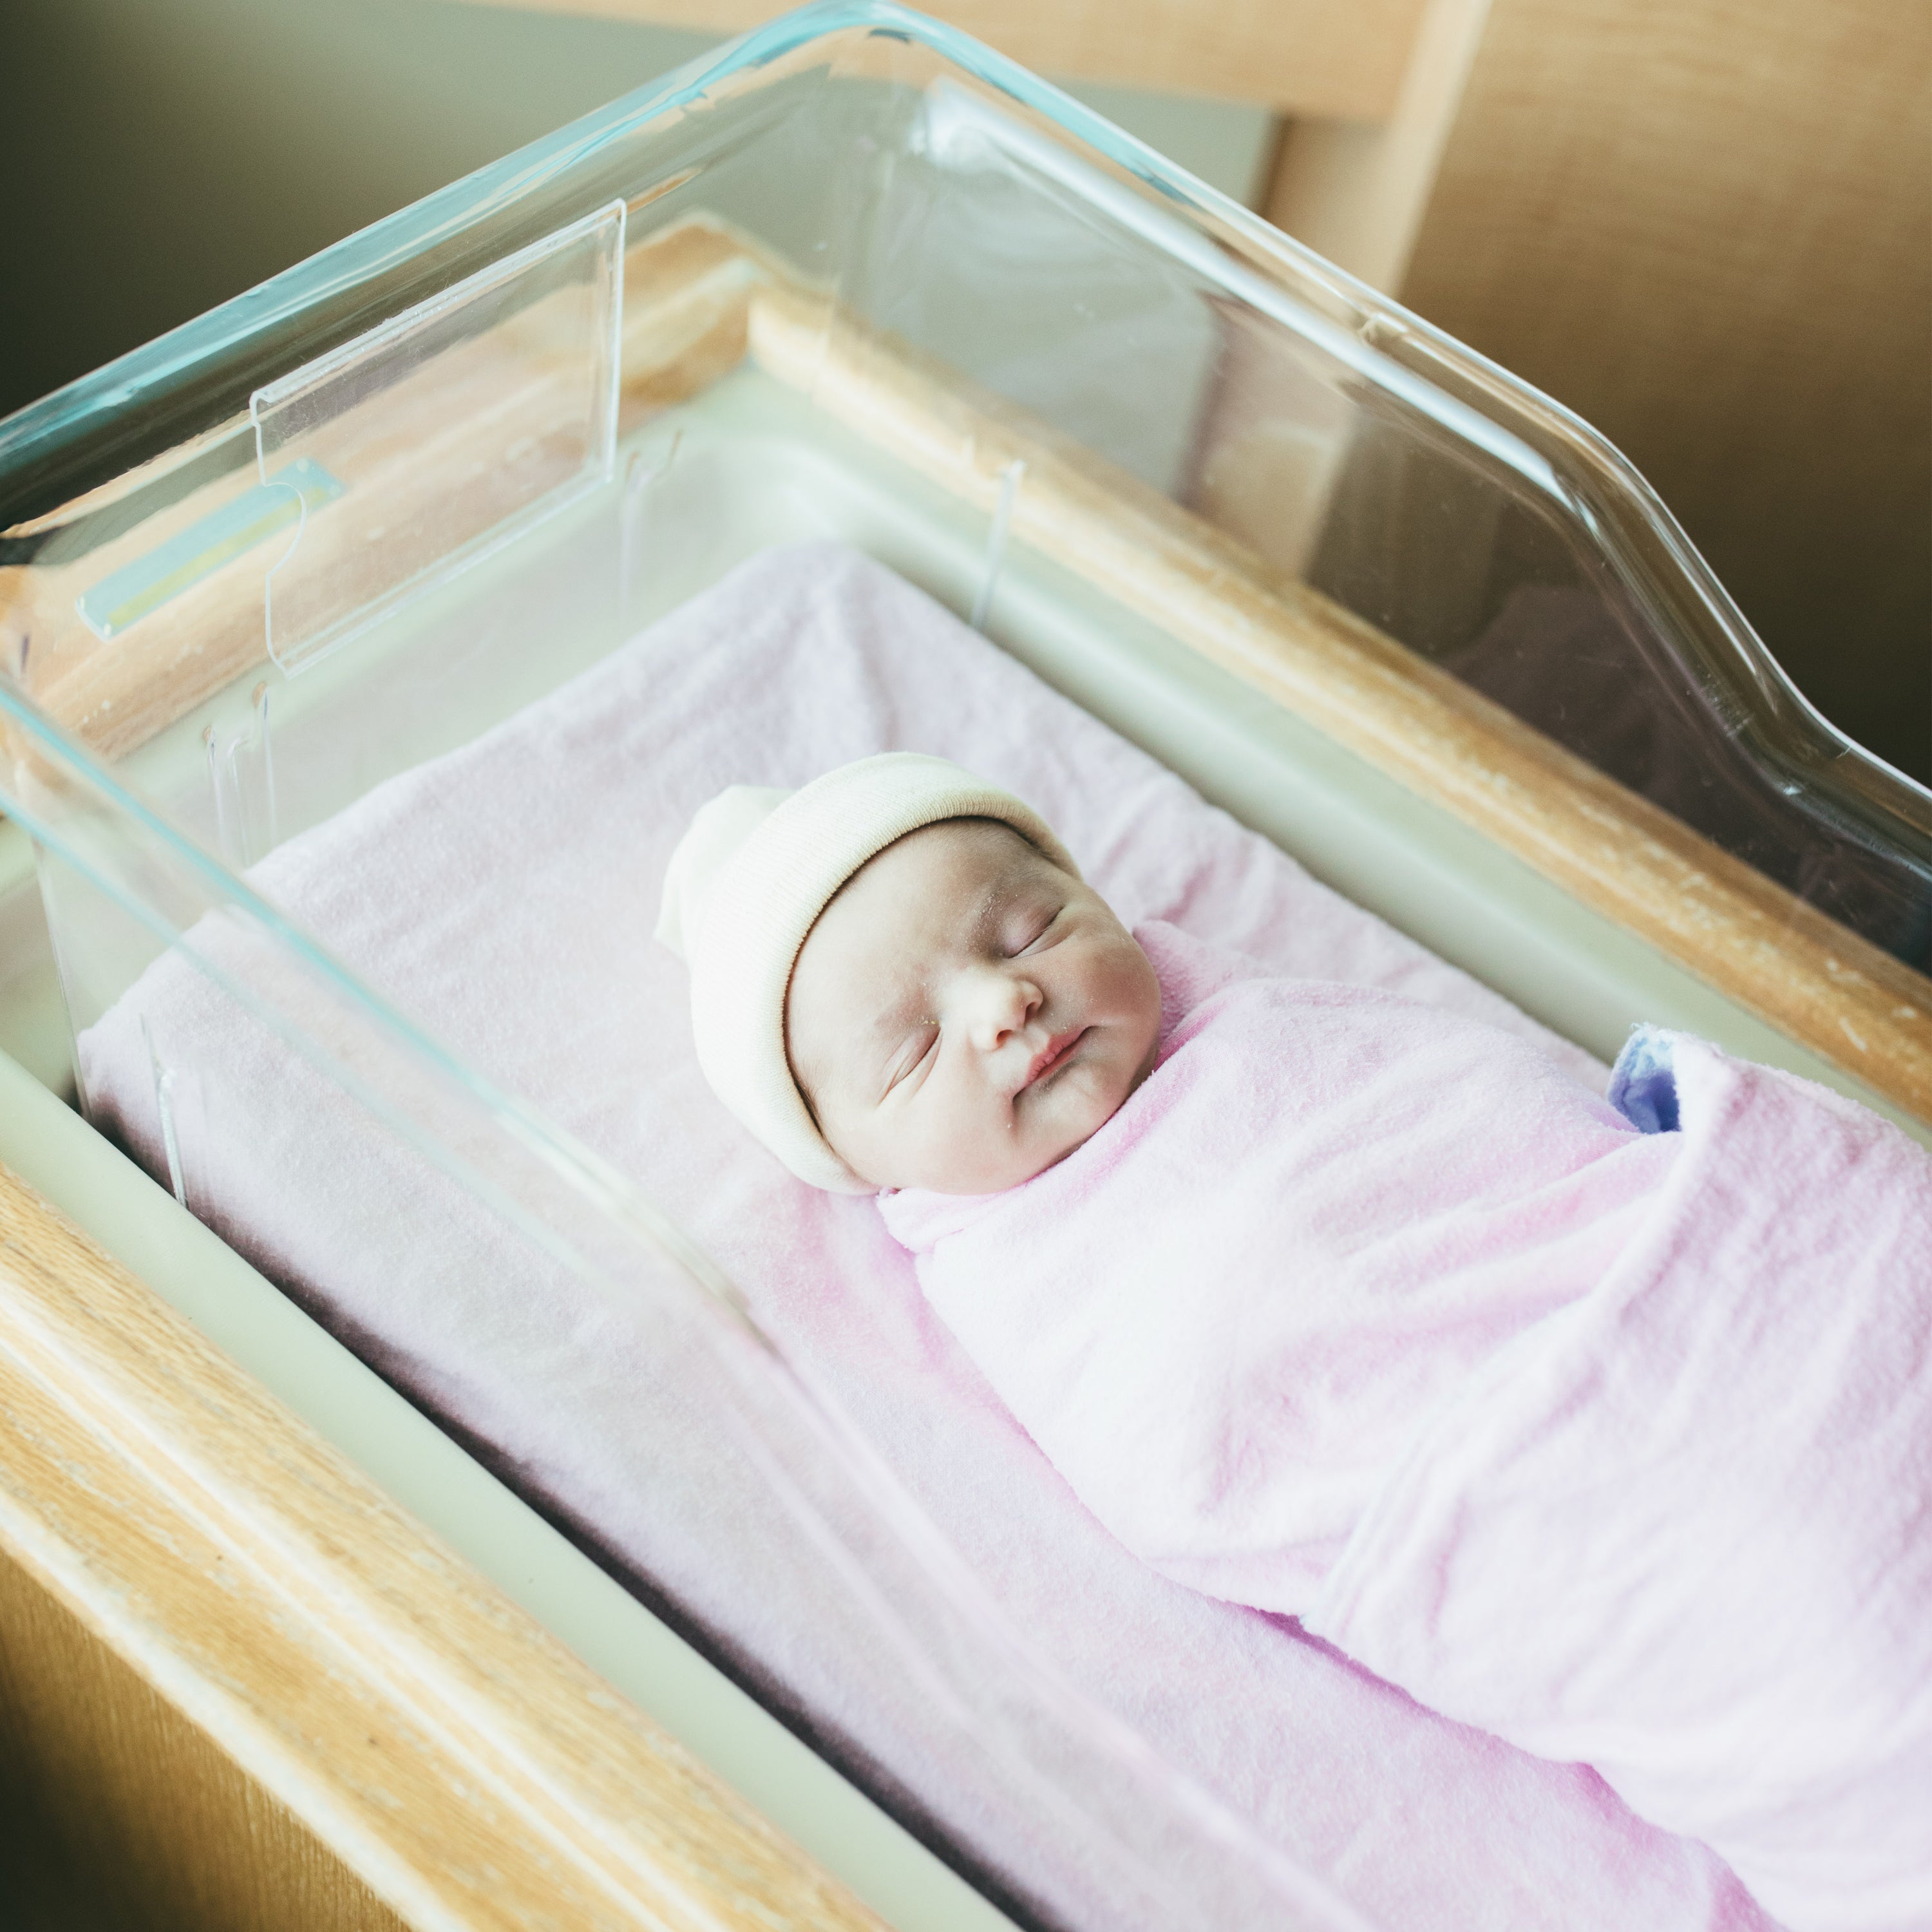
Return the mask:
{"type": "Polygon", "coordinates": [[[4,1167],[0,1439],[0,1725],[185,1922],[877,1932],[4,1167]]]}

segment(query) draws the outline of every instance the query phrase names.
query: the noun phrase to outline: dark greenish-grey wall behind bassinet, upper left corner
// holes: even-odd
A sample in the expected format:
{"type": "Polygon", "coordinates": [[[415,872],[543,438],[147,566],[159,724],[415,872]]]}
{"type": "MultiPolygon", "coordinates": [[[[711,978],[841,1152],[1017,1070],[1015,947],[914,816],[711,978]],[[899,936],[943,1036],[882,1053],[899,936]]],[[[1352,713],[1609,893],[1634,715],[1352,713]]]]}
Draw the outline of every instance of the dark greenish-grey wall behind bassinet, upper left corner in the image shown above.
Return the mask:
{"type": "Polygon", "coordinates": [[[0,0],[0,413],[709,44],[439,0],[0,0]]]}

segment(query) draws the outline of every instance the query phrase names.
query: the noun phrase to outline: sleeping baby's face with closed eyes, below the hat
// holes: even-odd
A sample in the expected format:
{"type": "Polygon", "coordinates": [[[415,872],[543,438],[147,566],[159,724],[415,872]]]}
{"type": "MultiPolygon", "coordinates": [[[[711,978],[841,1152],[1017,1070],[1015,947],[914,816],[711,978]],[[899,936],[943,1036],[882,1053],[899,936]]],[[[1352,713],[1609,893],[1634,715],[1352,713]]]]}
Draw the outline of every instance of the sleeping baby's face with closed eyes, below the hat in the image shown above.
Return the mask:
{"type": "Polygon", "coordinates": [[[997,1194],[1072,1153],[1153,1066],[1161,989],[1097,893],[993,819],[860,867],[792,970],[784,1045],[864,1180],[997,1194]]]}

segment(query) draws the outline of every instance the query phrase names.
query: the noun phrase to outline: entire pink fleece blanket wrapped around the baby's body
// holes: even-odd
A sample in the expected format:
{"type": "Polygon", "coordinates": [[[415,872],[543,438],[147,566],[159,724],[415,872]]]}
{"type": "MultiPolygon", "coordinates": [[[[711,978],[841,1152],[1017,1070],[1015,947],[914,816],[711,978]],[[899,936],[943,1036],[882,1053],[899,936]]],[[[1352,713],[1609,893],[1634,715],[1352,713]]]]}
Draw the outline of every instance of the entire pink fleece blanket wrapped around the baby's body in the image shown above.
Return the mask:
{"type": "Polygon", "coordinates": [[[1658,1034],[1644,1134],[1480,1022],[1136,937],[1126,1105],[1005,1194],[879,1196],[1088,1509],[1793,1928],[1932,1924],[1932,1159],[1658,1034]]]}

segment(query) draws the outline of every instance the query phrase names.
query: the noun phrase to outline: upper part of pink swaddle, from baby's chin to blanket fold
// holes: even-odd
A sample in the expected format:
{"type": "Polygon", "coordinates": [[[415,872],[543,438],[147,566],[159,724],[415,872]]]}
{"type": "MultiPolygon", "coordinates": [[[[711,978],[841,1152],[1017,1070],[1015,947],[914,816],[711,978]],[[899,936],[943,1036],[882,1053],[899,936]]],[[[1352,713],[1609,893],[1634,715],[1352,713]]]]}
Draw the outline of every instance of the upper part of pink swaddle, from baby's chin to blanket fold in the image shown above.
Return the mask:
{"type": "Polygon", "coordinates": [[[1121,1542],[1298,1615],[1420,1418],[1605,1273],[1677,1142],[1495,1028],[1136,939],[1163,1041],[1128,1103],[1026,1186],[879,1208],[1121,1542]]]}

